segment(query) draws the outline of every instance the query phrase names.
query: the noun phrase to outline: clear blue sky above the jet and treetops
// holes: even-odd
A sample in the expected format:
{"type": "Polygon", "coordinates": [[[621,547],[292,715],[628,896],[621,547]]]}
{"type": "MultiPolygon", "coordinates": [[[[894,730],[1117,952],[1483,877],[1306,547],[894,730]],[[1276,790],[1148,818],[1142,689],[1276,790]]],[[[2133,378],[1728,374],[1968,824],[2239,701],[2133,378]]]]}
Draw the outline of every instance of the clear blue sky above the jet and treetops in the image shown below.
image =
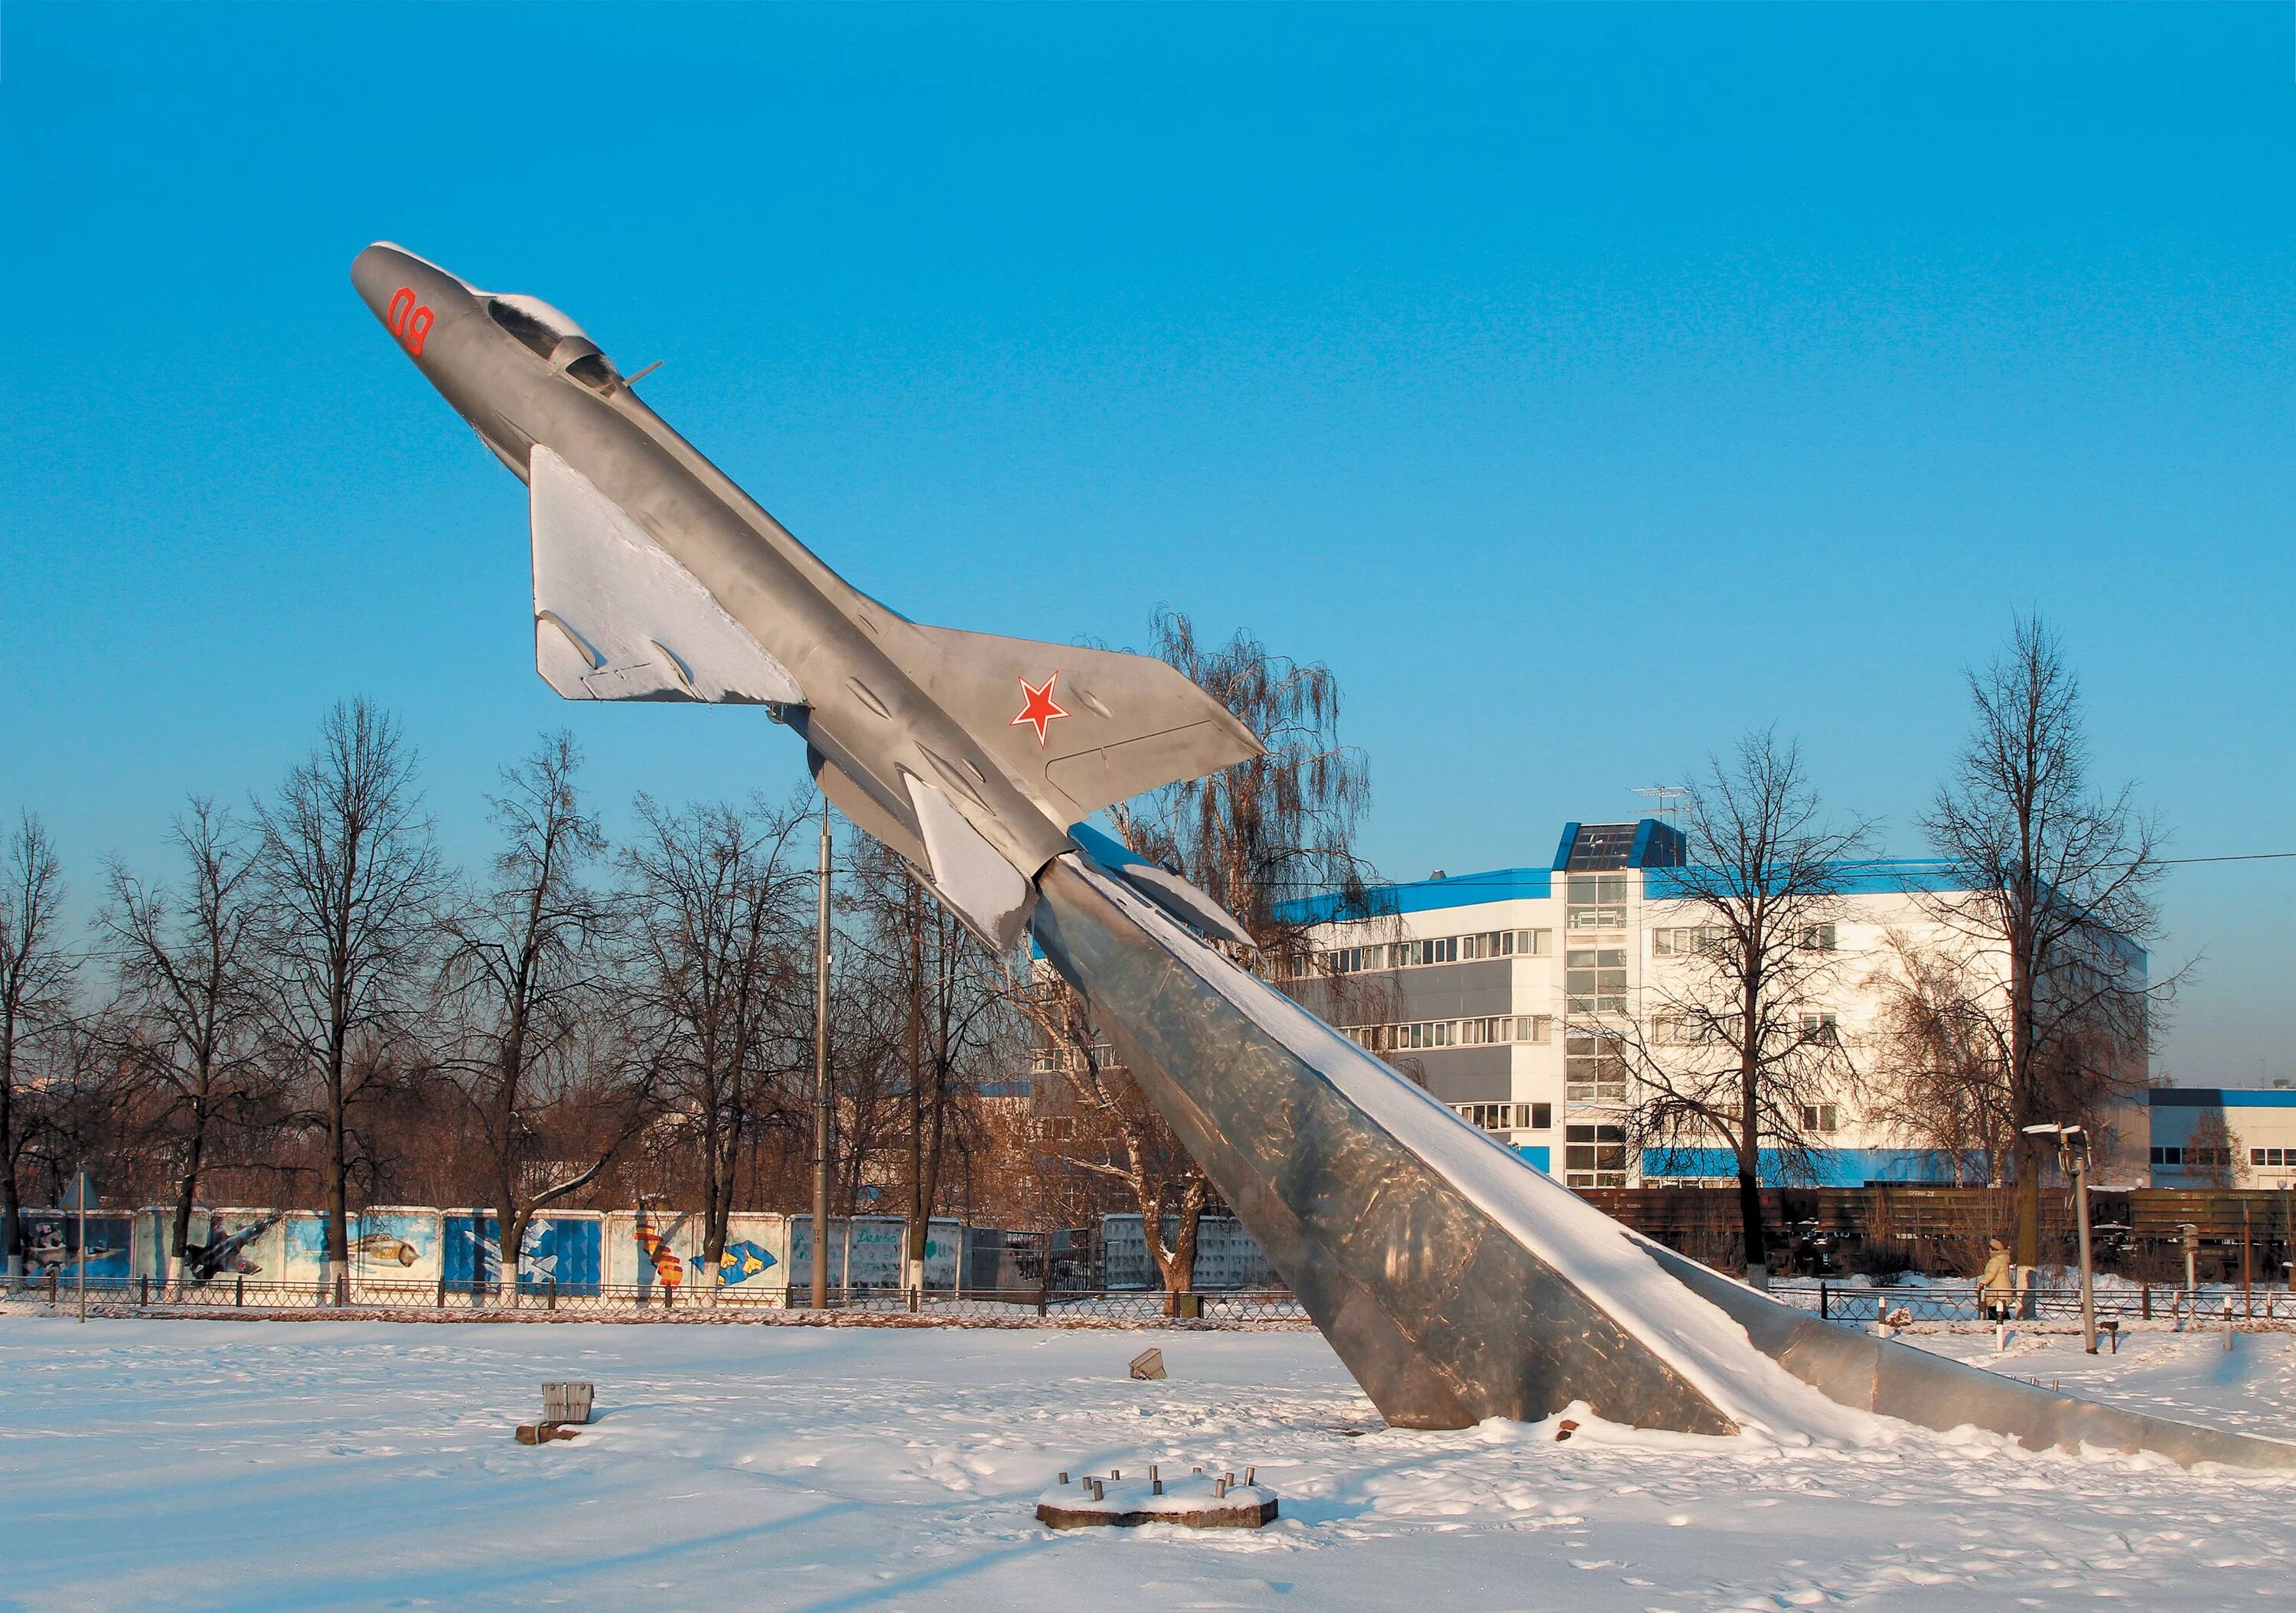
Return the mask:
{"type": "MultiPolygon", "coordinates": [[[[354,299],[546,296],[918,620],[1169,602],[1345,689],[1371,852],[1543,862],[1752,724],[1919,852],[2039,609],[2183,855],[2296,850],[2285,5],[0,11],[0,811],[80,889],[365,692],[459,857],[744,710],[535,678],[521,487],[354,299]]],[[[2296,1073],[2296,862],[2177,871],[2163,1066],[2296,1073]]]]}

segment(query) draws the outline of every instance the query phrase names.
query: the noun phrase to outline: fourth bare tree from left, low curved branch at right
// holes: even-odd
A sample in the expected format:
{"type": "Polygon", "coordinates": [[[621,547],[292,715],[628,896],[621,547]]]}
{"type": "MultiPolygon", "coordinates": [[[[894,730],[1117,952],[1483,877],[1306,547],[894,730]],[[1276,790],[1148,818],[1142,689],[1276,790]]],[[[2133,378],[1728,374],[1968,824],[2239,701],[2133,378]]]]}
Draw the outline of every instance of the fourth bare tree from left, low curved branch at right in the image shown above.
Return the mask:
{"type": "Polygon", "coordinates": [[[620,1057],[604,1025],[618,983],[615,905],[583,882],[606,836],[581,806],[579,770],[581,749],[563,731],[503,770],[489,797],[503,834],[494,880],[445,921],[443,995],[457,1016],[450,1068],[487,1144],[496,1280],[512,1305],[535,1213],[597,1181],[647,1117],[645,1062],[620,1057]],[[606,1110],[602,1126],[581,1128],[581,1160],[565,1156],[576,1130],[565,1110],[576,1103],[606,1110]]]}

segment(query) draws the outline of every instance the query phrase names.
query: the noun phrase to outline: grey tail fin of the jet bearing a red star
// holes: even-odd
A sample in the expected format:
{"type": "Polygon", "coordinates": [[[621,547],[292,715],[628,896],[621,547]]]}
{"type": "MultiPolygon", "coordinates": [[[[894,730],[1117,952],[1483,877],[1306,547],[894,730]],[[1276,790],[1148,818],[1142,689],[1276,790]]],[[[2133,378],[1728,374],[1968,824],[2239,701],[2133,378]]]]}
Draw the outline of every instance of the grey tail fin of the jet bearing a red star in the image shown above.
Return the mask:
{"type": "Polygon", "coordinates": [[[909,623],[900,636],[886,653],[1058,823],[1263,751],[1150,655],[909,623]]]}

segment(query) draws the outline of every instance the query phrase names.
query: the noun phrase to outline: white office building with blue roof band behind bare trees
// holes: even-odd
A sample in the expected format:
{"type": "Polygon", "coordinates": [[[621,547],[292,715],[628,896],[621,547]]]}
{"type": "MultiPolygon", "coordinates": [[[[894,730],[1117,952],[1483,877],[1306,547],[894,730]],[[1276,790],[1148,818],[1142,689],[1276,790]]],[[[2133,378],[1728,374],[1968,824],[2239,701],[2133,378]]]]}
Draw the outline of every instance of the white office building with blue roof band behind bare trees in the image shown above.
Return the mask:
{"type": "MultiPolygon", "coordinates": [[[[1665,823],[1564,825],[1545,869],[1433,875],[1380,887],[1373,914],[1304,901],[1318,954],[1283,981],[1309,1009],[1414,1075],[1472,1124],[1561,1174],[1573,1188],[1660,1181],[1736,1181],[1727,1149],[1630,1153],[1621,1110],[1630,1064],[1605,1022],[1632,1022],[1662,1050],[1667,970],[1699,947],[1699,910],[1681,896],[1683,836],[1665,823]]],[[[1906,947],[1938,940],[1933,903],[1949,892],[1936,862],[1844,864],[1839,919],[1814,926],[1812,949],[1835,954],[1823,995],[1800,1009],[1837,1036],[1851,1064],[1874,1057],[1883,981],[1906,947]]],[[[1713,919],[1708,917],[1706,924],[1713,919]]],[[[2142,967],[2142,954],[2133,954],[2142,967]]],[[[2135,1082],[2142,1087],[2142,1073],[2135,1082]]],[[[1807,1105],[1823,1137],[1821,1186],[1952,1181],[1952,1160],[1903,1135],[1878,1082],[1846,1080],[1807,1105]]],[[[2147,1112],[2124,1110],[2101,1149],[2105,1179],[2140,1181],[2147,1112]]],[[[1770,1160],[1763,1179],[1773,1181],[1770,1160]]]]}

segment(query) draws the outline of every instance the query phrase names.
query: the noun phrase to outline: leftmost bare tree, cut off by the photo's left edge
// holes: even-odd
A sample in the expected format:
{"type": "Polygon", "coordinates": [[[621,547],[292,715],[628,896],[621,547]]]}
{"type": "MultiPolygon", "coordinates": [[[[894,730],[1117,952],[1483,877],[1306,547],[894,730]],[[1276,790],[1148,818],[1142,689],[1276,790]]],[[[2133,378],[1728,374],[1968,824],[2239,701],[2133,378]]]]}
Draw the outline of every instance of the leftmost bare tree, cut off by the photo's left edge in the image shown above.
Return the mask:
{"type": "Polygon", "coordinates": [[[0,1252],[7,1284],[23,1282],[23,1202],[16,1167],[28,1126],[21,1110],[25,1055],[71,1013],[78,958],[57,944],[64,869],[32,813],[16,820],[0,864],[0,1252]]]}

